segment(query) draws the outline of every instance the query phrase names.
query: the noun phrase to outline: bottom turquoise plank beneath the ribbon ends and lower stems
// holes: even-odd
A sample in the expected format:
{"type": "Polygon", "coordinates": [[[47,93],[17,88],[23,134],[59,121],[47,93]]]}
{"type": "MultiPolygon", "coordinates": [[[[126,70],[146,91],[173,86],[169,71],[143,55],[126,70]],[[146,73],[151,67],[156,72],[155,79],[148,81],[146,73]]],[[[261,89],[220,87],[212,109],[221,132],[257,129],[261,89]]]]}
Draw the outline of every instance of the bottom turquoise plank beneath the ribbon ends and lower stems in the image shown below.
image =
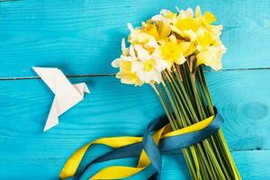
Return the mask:
{"type": "MultiPolygon", "coordinates": [[[[245,180],[270,178],[269,150],[233,152],[238,170],[245,180]]],[[[0,178],[14,179],[58,179],[58,173],[66,157],[37,159],[0,159],[0,178]]],[[[132,165],[134,160],[130,160],[132,165]]],[[[111,163],[110,163],[111,164],[111,163]]],[[[103,166],[106,166],[103,164],[103,166]]],[[[96,169],[98,169],[96,166],[96,169]]],[[[95,167],[94,167],[95,168],[95,167]]],[[[94,169],[95,170],[95,169],[94,169]]],[[[141,178],[136,178],[141,179],[141,178]]],[[[189,174],[182,155],[163,156],[161,180],[188,180],[189,174]]]]}

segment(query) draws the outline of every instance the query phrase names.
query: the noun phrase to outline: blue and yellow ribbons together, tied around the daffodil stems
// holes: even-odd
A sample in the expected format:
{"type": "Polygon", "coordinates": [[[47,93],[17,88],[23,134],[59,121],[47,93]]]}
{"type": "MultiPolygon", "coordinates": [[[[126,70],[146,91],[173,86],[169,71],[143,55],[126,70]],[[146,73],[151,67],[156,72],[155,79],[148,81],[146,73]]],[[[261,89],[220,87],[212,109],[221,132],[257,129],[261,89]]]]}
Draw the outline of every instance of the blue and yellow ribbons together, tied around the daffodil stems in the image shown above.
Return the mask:
{"type": "Polygon", "coordinates": [[[207,139],[220,129],[224,120],[215,109],[216,115],[194,123],[181,130],[172,130],[166,117],[148,124],[143,137],[111,137],[96,139],[79,148],[67,159],[59,177],[61,179],[123,179],[144,172],[145,179],[161,172],[161,154],[186,148],[207,139]],[[87,156],[92,145],[112,148],[94,160],[87,156]],[[139,157],[137,166],[107,166],[92,175],[95,163],[125,157],[139,157]],[[85,166],[86,164],[86,166],[85,166]]]}

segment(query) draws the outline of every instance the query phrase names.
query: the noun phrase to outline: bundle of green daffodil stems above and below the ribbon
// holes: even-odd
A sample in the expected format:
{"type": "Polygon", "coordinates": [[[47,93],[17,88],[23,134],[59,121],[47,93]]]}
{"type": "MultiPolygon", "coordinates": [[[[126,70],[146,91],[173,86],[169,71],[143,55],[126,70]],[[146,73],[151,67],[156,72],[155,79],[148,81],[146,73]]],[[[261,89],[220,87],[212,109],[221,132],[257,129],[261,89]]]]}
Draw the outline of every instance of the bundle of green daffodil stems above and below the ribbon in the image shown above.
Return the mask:
{"type": "MultiPolygon", "coordinates": [[[[162,85],[152,85],[173,130],[215,114],[202,66],[194,67],[192,62],[174,65],[162,73],[162,85]]],[[[222,130],[182,152],[194,180],[241,180],[222,130]]]]}

